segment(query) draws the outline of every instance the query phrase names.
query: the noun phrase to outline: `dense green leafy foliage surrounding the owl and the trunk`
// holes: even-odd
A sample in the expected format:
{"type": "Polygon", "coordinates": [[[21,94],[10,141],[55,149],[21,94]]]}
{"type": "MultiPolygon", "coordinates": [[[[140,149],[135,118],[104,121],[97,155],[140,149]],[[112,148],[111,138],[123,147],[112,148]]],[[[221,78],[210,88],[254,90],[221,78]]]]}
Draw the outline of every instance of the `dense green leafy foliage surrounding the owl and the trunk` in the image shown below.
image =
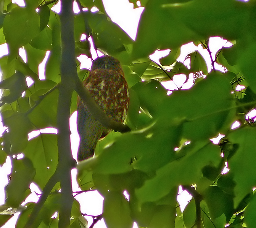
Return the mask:
{"type": "MultiPolygon", "coordinates": [[[[63,5],[67,2],[63,0],[63,5]]],[[[130,2],[137,7],[137,0],[130,2]]],[[[59,89],[64,84],[60,71],[64,61],[61,52],[66,48],[61,43],[63,20],[51,10],[56,1],[25,0],[25,7],[11,0],[0,3],[0,44],[7,43],[9,51],[0,58],[0,112],[6,126],[0,165],[7,156],[11,156],[12,164],[0,225],[12,217],[10,211],[21,211],[18,228],[26,223],[57,227],[63,217],[52,215],[62,213],[61,195],[70,182],[60,185],[57,181],[43,202],[20,205],[30,194],[31,182],[46,191],[56,169],[65,169],[58,152],[58,135],[41,133],[28,141],[33,130],[54,127],[60,132],[57,119],[62,113],[57,107],[60,98],[65,99],[59,89]],[[19,56],[21,47],[26,51],[26,62],[19,56]],[[40,80],[38,67],[46,51],[50,55],[45,79],[40,80]],[[27,77],[33,80],[29,87],[27,77]],[[21,153],[22,159],[13,156],[21,153]],[[61,193],[57,191],[60,186],[61,193]],[[31,214],[33,210],[38,213],[31,214]],[[28,222],[31,217],[34,223],[28,222]]],[[[108,228],[130,228],[133,222],[148,228],[254,227],[256,130],[254,119],[246,114],[256,106],[255,1],[141,0],[145,9],[135,41],[109,19],[101,0],[77,3],[80,9],[89,10],[74,15],[76,57],[91,57],[88,40],[80,40],[82,34],[91,36],[95,48],[122,63],[131,98],[126,123],[132,131],[107,136],[100,141],[96,157],[77,166],[81,190],[97,189],[104,197],[103,214],[95,221],[103,217],[108,228]],[[93,6],[99,11],[90,11],[93,6]],[[213,56],[209,48],[212,36],[233,45],[213,56]],[[210,73],[199,52],[187,56],[188,68],[177,61],[180,47],[188,42],[207,49],[210,73]],[[160,60],[161,65],[148,57],[156,49],[171,49],[160,60]],[[214,63],[224,66],[225,73],[217,71],[214,63]],[[194,76],[191,89],[177,88],[167,95],[161,82],[178,74],[185,74],[188,80],[190,73],[194,76]],[[245,89],[236,91],[240,84],[245,89]],[[231,129],[235,121],[240,127],[231,129]],[[219,133],[225,137],[218,145],[213,144],[209,139],[219,133]],[[223,174],[226,165],[230,170],[223,174]],[[177,203],[180,185],[193,196],[183,212],[177,203]]],[[[83,80],[87,70],[80,69],[77,59],[76,63],[83,80]]],[[[72,84],[70,87],[74,91],[72,84]]],[[[70,104],[69,115],[76,111],[76,99],[73,92],[66,102],[70,104]]],[[[63,181],[62,177],[58,180],[63,181]]],[[[79,203],[74,200],[66,205],[71,206],[70,227],[88,227],[79,203]]]]}

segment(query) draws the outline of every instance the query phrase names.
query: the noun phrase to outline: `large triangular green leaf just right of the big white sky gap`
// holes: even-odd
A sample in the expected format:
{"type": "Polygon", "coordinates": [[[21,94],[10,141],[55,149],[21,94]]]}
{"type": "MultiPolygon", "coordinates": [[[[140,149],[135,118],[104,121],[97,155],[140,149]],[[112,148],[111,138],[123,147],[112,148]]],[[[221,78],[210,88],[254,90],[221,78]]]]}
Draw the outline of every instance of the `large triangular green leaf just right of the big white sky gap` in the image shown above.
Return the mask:
{"type": "Polygon", "coordinates": [[[172,13],[169,8],[163,7],[164,3],[169,1],[149,0],[147,2],[138,26],[133,48],[134,58],[146,57],[156,49],[176,48],[193,38],[200,39],[200,36],[188,28],[183,21],[177,19],[175,15],[177,13],[172,13]],[[165,28],[165,35],[163,35],[163,28],[165,28]]]}

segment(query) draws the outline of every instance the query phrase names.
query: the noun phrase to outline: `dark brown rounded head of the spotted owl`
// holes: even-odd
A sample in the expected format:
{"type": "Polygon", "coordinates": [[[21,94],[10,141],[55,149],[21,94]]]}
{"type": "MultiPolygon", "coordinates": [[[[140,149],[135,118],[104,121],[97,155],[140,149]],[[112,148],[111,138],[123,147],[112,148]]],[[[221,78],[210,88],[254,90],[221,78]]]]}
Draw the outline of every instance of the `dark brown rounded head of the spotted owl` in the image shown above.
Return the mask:
{"type": "Polygon", "coordinates": [[[120,71],[122,67],[120,62],[116,58],[109,55],[105,55],[93,60],[91,71],[96,69],[120,71]]]}

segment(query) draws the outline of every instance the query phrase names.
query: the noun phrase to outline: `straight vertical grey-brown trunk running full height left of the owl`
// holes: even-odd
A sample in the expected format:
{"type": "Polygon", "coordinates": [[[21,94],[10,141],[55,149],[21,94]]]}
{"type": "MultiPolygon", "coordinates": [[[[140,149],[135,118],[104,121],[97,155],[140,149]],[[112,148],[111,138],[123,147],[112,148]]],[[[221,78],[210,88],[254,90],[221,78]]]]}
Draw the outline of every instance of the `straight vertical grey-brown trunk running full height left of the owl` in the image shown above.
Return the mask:
{"type": "Polygon", "coordinates": [[[72,158],[69,117],[72,93],[75,88],[76,55],[74,38],[73,0],[61,1],[61,82],[57,107],[58,126],[58,154],[60,166],[61,203],[59,214],[59,228],[68,228],[70,225],[71,208],[74,201],[71,185],[71,169],[76,161],[72,158]]]}

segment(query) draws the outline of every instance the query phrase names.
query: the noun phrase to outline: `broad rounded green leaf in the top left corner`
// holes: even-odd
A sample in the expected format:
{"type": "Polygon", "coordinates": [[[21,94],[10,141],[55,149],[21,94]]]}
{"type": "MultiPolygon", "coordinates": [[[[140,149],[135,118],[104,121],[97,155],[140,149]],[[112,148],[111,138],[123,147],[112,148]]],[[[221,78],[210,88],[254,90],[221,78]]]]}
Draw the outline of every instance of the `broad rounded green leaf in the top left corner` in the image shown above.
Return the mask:
{"type": "Polygon", "coordinates": [[[3,33],[11,50],[16,50],[31,41],[40,32],[40,18],[35,11],[15,7],[6,15],[3,33]]]}

